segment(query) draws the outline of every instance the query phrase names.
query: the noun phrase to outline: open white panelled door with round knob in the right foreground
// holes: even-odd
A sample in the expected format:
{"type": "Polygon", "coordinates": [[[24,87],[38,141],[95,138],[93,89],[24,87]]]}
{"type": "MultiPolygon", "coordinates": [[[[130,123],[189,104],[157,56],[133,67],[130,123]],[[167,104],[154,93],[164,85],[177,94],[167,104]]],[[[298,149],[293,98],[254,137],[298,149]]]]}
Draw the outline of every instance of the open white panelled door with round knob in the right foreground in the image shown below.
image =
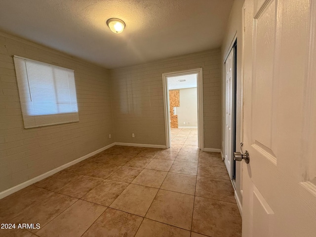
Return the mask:
{"type": "Polygon", "coordinates": [[[245,0],[243,237],[316,237],[315,4],[245,0]]]}

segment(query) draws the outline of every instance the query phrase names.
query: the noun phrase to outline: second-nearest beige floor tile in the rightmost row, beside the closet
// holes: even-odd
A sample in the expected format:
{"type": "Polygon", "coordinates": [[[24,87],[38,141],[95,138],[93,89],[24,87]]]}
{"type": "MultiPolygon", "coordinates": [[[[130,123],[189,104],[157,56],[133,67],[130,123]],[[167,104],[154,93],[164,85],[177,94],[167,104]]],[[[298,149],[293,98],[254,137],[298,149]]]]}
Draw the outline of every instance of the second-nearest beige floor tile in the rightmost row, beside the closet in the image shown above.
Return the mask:
{"type": "Polygon", "coordinates": [[[230,180],[197,176],[196,196],[236,203],[230,180]]]}

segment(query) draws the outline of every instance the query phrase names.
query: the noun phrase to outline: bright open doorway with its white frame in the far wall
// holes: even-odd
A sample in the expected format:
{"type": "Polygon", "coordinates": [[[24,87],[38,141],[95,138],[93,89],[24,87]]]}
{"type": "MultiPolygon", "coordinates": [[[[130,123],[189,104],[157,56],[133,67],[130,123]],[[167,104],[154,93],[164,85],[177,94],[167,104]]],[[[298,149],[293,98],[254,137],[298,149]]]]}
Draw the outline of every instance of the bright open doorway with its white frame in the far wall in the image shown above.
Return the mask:
{"type": "MultiPolygon", "coordinates": [[[[187,145],[197,144],[200,150],[204,148],[203,141],[203,106],[202,106],[202,68],[191,69],[179,72],[162,74],[163,79],[163,100],[165,117],[166,148],[171,148],[173,144],[186,143],[187,145]],[[185,81],[186,80],[186,81],[185,81]],[[189,80],[189,81],[187,81],[189,80]],[[184,83],[183,83],[184,82],[184,83]],[[186,86],[181,86],[186,84],[186,86]],[[181,88],[182,87],[182,88],[181,88]],[[184,88],[186,87],[186,88],[184,88]],[[195,88],[195,89],[194,89],[195,88]],[[179,90],[179,91],[177,91],[179,90]],[[182,90],[182,91],[180,91],[182,90]],[[185,106],[179,106],[177,97],[180,95],[194,95],[196,90],[196,111],[197,118],[186,112],[185,106]],[[170,93],[171,92],[171,93],[170,93]],[[182,92],[182,93],[181,93],[182,92]],[[170,97],[171,104],[170,104],[170,97]],[[189,123],[189,124],[188,124],[189,123]],[[172,136],[172,137],[171,137],[172,136]],[[194,137],[197,142],[194,142],[194,137]]],[[[187,98],[188,99],[188,98],[187,98]]],[[[190,98],[189,98],[190,100],[190,98]]],[[[186,103],[186,102],[185,102],[186,103]]],[[[187,101],[186,104],[189,104],[187,101]]],[[[190,103],[191,110],[194,110],[194,104],[190,103]]]]}

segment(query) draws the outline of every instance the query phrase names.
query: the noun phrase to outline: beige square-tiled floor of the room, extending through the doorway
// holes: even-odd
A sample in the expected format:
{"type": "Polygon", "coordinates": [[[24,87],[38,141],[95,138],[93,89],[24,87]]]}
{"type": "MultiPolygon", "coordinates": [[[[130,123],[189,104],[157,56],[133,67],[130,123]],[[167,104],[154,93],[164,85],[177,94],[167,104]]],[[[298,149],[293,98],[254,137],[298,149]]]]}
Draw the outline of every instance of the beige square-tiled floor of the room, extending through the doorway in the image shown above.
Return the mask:
{"type": "Polygon", "coordinates": [[[0,223],[16,229],[0,236],[240,237],[219,154],[192,144],[195,129],[172,132],[171,149],[114,146],[1,199],[0,223]]]}

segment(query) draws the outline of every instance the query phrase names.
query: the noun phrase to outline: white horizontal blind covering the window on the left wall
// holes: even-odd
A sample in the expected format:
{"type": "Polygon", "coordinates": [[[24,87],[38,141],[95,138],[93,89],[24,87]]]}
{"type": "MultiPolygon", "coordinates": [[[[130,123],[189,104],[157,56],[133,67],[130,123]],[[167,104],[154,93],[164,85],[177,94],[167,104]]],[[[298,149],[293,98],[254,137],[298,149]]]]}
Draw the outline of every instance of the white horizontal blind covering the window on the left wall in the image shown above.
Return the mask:
{"type": "Polygon", "coordinates": [[[14,56],[25,128],[79,121],[74,71],[14,56]]]}

